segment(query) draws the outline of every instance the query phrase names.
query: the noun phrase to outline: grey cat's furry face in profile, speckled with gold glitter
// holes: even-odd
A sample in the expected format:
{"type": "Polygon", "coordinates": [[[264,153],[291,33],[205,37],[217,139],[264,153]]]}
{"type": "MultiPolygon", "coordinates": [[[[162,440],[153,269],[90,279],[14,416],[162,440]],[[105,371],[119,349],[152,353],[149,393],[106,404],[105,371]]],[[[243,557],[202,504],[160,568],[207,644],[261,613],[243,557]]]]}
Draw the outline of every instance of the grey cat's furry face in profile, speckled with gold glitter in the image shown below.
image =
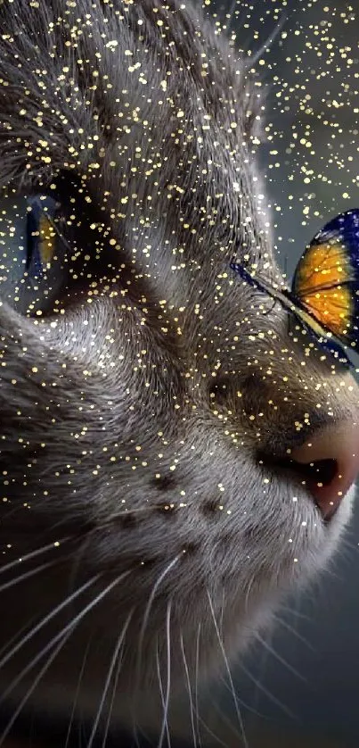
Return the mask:
{"type": "Polygon", "coordinates": [[[0,682],[96,713],[119,658],[119,719],[223,669],[328,560],[353,489],[325,521],[282,458],[358,395],[229,269],[279,278],[260,87],[210,24],[176,0],[0,22],[4,204],[56,204],[50,269],[0,309],[0,682]]]}

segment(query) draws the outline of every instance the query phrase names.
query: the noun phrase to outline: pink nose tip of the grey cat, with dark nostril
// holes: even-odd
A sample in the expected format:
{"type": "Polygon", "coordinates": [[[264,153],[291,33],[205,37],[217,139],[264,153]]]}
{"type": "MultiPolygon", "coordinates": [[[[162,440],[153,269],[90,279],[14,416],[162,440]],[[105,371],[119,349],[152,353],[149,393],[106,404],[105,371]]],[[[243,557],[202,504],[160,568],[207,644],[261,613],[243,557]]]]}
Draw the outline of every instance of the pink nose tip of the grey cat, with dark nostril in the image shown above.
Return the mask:
{"type": "Polygon", "coordinates": [[[323,519],[331,519],[359,473],[359,423],[343,420],[319,429],[290,458],[323,519]]]}

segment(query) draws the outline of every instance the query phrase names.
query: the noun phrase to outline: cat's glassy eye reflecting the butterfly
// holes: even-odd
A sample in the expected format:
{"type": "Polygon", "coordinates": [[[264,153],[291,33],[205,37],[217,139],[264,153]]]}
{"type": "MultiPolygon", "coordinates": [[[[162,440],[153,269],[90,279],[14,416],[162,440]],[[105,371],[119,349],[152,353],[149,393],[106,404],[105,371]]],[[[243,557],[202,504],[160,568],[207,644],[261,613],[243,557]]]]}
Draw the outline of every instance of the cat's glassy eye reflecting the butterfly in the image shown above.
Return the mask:
{"type": "Polygon", "coordinates": [[[66,275],[61,204],[50,195],[0,199],[0,297],[22,314],[53,306],[66,275]]]}

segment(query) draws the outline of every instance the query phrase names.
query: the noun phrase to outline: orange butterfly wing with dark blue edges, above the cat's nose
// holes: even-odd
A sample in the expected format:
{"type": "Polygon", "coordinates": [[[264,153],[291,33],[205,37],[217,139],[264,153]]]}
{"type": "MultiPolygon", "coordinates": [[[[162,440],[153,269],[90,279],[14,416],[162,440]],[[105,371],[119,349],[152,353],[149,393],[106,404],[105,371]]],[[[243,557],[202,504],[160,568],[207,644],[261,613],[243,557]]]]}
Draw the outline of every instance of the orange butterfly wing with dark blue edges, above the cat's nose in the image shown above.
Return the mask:
{"type": "Polygon", "coordinates": [[[359,340],[359,210],[341,213],[316,234],[298,262],[292,295],[324,331],[355,347],[359,340]]]}

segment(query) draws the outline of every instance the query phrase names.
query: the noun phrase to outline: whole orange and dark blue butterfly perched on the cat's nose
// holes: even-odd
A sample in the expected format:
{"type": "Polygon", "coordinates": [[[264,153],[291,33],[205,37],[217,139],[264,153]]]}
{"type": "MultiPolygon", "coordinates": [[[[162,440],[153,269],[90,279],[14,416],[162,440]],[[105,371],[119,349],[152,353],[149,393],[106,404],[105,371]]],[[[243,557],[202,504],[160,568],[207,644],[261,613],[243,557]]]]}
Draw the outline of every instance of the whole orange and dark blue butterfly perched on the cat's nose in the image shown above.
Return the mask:
{"type": "Polygon", "coordinates": [[[298,262],[291,290],[257,278],[239,262],[230,267],[281,303],[290,319],[340,362],[353,366],[342,345],[359,344],[359,209],[340,213],[315,235],[298,262]]]}

